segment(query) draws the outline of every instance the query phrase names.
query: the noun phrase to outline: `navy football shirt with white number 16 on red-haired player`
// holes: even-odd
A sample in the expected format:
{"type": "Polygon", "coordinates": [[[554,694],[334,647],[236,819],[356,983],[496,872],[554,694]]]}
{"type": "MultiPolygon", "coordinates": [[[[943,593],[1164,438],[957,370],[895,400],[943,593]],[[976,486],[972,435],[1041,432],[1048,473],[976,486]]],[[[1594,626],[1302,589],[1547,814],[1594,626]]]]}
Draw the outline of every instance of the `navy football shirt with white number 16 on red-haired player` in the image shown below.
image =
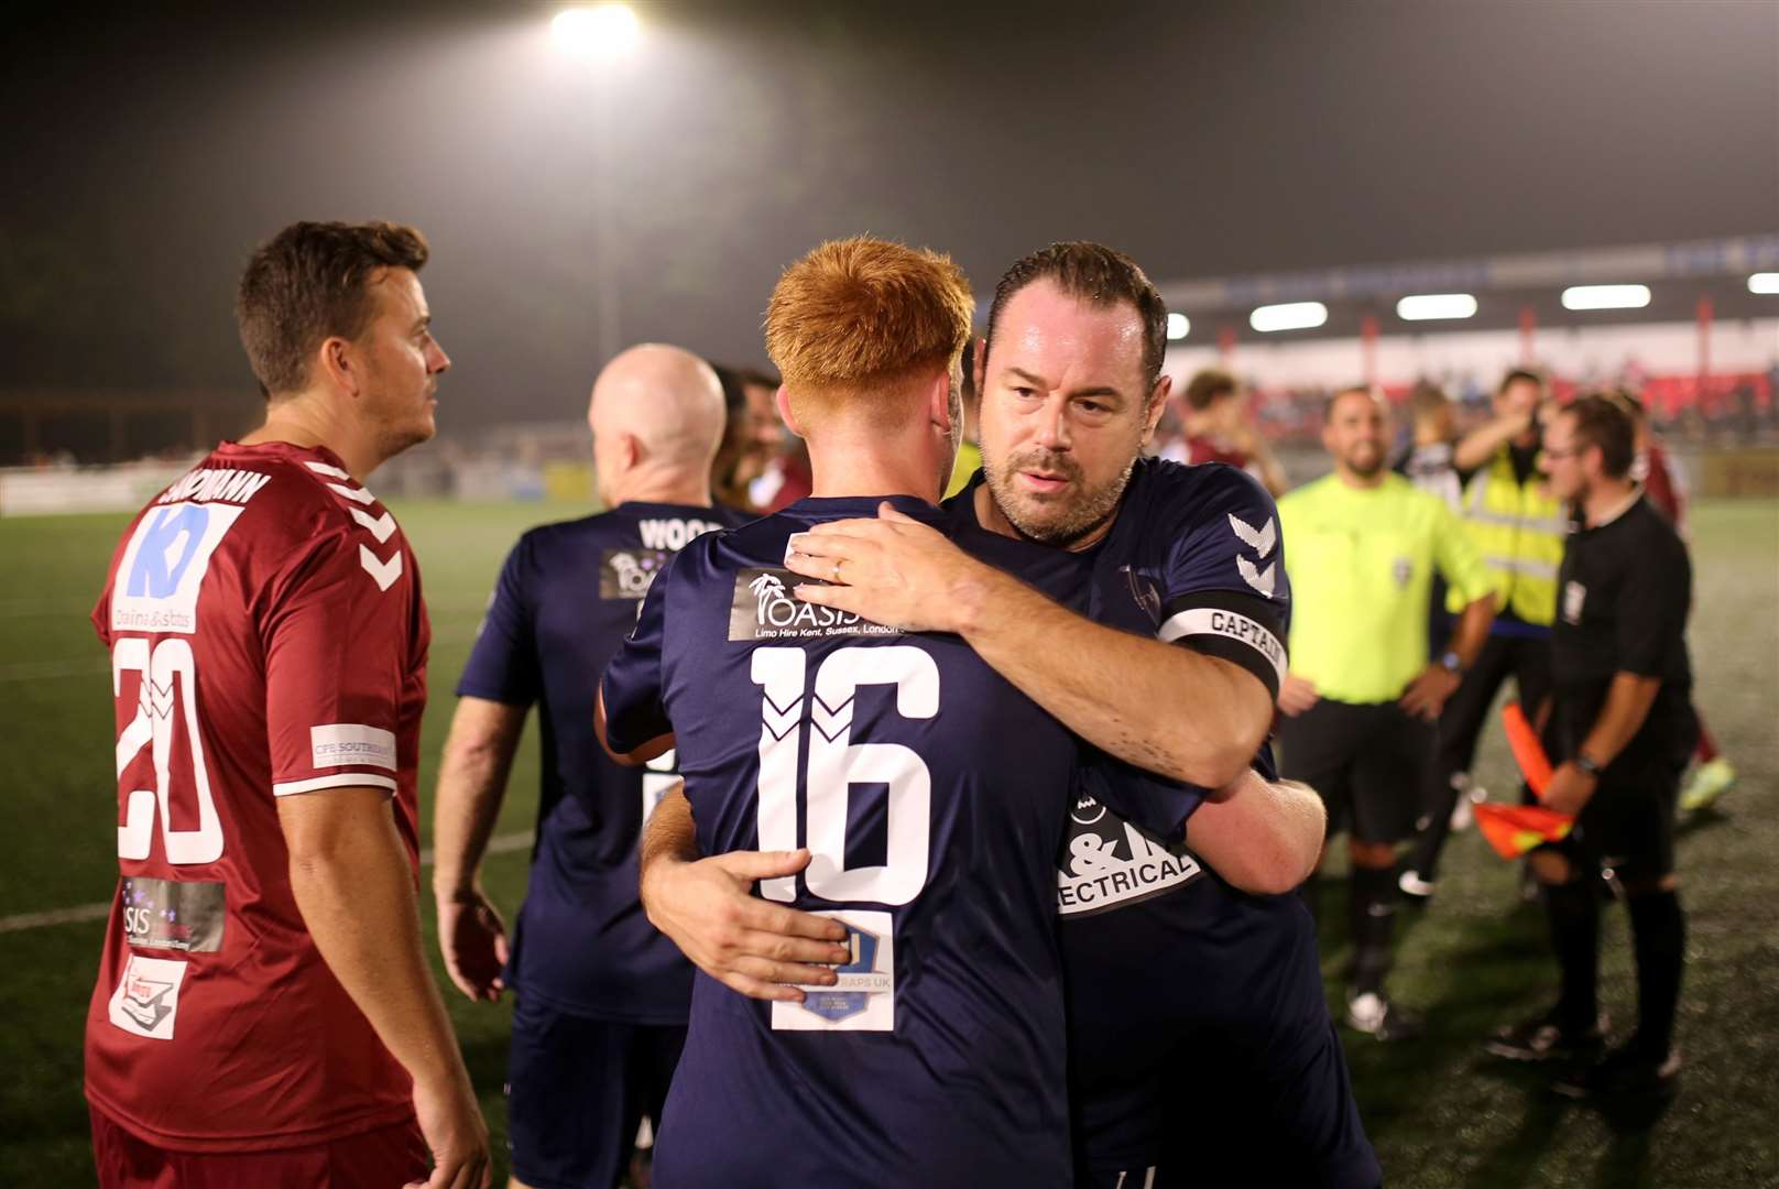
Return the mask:
{"type": "MultiPolygon", "coordinates": [[[[790,536],[877,504],[806,498],[688,546],[605,673],[614,749],[674,732],[701,851],[808,845],[760,894],[843,920],[852,947],[804,1004],[696,975],[664,1189],[1071,1178],[1053,856],[1094,762],[959,637],[792,596],[790,536]]],[[[1041,589],[1083,578],[1060,550],[970,546],[1041,589]]],[[[1110,796],[1139,787],[1124,808],[1163,833],[1197,805],[1133,780],[1110,796]]]]}

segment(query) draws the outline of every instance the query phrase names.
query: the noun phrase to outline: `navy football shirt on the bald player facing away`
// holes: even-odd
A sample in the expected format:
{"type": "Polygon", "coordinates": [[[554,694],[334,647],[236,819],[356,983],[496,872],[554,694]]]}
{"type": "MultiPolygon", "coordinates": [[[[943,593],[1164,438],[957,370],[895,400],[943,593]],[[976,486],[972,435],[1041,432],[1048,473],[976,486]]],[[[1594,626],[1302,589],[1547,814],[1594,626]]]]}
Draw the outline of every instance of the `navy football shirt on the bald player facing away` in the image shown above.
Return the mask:
{"type": "Polygon", "coordinates": [[[630,502],[532,529],[507,555],[457,696],[539,708],[537,842],[505,974],[527,999],[685,1023],[692,967],[637,901],[637,840],[676,780],[672,756],[653,771],[614,764],[592,735],[592,701],[667,559],[744,520],[726,507],[630,502]]]}

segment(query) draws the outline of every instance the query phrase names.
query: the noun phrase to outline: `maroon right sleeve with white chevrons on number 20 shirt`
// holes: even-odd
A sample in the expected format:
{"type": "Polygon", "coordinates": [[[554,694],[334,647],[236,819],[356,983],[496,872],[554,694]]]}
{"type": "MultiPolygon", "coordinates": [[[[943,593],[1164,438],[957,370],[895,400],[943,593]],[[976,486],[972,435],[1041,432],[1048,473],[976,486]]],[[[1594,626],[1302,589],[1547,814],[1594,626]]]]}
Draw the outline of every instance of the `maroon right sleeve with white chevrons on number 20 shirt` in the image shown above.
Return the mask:
{"type": "Polygon", "coordinates": [[[397,789],[397,730],[415,575],[406,545],[361,532],[311,541],[274,587],[265,644],[272,792],[397,789]]]}

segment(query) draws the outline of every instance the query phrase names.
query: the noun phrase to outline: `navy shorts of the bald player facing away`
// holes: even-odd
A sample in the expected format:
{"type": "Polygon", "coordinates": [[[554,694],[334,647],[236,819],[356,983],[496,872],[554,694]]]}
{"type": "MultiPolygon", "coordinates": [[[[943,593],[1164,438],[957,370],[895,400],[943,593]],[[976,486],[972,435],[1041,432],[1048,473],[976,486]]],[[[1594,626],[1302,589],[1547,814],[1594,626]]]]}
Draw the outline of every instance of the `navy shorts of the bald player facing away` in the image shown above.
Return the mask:
{"type": "Polygon", "coordinates": [[[519,997],[507,1052],[512,1175],[535,1189],[612,1189],[637,1127],[660,1123],[683,1027],[616,1023],[519,997]]]}

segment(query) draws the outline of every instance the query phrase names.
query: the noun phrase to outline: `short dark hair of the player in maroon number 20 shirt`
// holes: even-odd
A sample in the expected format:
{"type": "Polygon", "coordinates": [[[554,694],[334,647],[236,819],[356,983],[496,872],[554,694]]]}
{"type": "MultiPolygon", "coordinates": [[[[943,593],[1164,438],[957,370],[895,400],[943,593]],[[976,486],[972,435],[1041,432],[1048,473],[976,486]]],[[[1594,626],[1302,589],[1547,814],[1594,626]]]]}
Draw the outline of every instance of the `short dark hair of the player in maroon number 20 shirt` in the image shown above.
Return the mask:
{"type": "Polygon", "coordinates": [[[256,247],[235,294],[235,322],[267,399],[308,384],[322,342],[365,333],[377,272],[418,272],[425,262],[425,237],[395,222],[292,222],[256,247]]]}

